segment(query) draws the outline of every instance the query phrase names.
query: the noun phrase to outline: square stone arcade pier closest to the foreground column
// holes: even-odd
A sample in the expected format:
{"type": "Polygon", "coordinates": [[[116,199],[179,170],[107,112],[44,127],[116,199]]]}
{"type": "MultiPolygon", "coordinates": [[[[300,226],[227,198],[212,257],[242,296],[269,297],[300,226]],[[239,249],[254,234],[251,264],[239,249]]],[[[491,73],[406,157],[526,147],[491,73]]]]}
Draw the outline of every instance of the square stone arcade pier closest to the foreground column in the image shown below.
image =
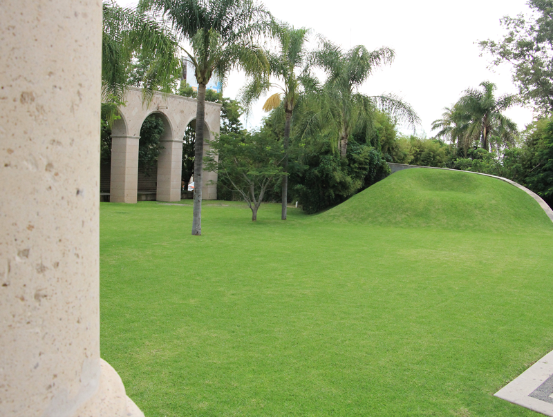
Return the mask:
{"type": "Polygon", "coordinates": [[[111,136],[109,201],[135,203],[138,195],[138,141],[136,136],[111,136]]]}

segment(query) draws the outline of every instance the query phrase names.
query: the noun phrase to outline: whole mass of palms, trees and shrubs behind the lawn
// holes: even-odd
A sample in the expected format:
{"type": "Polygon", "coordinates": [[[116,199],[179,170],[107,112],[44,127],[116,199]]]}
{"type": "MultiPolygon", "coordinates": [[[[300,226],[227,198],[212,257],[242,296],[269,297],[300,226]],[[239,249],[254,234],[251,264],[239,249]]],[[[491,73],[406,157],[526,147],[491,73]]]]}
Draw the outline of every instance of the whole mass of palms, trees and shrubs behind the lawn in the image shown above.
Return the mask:
{"type": "MultiPolygon", "coordinates": [[[[124,104],[124,88],[135,85],[144,88],[145,99],[161,90],[198,100],[196,128],[184,137],[182,166],[183,177],[196,173],[194,235],[201,233],[203,157],[219,173],[218,195],[245,200],[254,220],[263,199],[281,202],[283,220],[294,201],[309,213],[328,209],[388,175],[386,162],[500,175],[550,201],[552,3],[530,0],[534,17],[505,17],[509,33],[503,41],[480,42],[494,64],[512,63],[519,95],[497,97],[489,81],[468,88],[433,122],[433,138],[398,133],[400,122],[413,127],[420,122],[400,97],[361,92],[375,69],[393,62],[390,48],[344,50],[317,35],[317,46],[308,49],[310,30],[274,21],[261,3],[250,0],[141,0],[138,10],[104,3],[102,155],[115,109],[124,104]],[[179,38],[189,42],[182,51],[194,66],[198,90],[179,80],[179,38]],[[260,46],[263,39],[269,47],[260,46]],[[120,56],[118,48],[126,48],[120,56]],[[212,75],[224,84],[232,68],[249,79],[238,99],[205,88],[212,75]],[[322,80],[315,75],[321,72],[322,80]],[[245,130],[243,113],[274,91],[263,104],[268,115],[262,126],[245,130]],[[221,133],[210,144],[218,159],[203,153],[205,100],[222,104],[221,133]],[[541,116],[523,132],[504,115],[519,103],[532,104],[541,116]]],[[[144,137],[152,139],[144,141],[142,163],[156,158],[159,122],[144,126],[144,137]]]]}

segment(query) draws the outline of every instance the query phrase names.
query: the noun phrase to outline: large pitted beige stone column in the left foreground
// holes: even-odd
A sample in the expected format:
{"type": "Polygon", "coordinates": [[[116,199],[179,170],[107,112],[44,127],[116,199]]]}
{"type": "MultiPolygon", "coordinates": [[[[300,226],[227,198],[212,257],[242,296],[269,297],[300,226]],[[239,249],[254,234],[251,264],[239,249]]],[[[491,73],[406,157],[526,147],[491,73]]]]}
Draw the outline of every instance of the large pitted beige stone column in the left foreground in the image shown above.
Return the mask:
{"type": "Polygon", "coordinates": [[[0,416],[140,415],[100,359],[102,2],[0,23],[0,416]]]}

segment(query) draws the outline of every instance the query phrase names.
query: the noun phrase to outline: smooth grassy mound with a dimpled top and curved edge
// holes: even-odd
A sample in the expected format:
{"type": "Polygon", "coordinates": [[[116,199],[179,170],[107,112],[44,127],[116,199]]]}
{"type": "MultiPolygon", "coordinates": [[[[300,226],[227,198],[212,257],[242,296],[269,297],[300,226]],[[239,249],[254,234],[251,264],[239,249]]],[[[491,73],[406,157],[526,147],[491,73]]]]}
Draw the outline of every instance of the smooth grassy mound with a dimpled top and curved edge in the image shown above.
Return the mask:
{"type": "Polygon", "coordinates": [[[524,191],[485,175],[411,168],[317,216],[332,222],[519,233],[553,231],[524,191]]]}

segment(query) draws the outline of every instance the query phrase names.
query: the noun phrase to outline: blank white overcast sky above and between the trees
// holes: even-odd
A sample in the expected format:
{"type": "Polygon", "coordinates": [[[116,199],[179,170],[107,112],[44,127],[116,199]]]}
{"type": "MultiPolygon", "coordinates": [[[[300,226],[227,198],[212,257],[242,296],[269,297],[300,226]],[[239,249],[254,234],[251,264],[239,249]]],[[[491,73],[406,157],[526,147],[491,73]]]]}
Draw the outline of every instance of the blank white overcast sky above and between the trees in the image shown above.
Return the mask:
{"type": "MultiPolygon", "coordinates": [[[[117,0],[132,6],[133,0],[117,0]]],[[[480,40],[500,40],[505,30],[499,19],[506,14],[527,13],[525,0],[395,0],[386,2],[342,0],[266,0],[265,6],[279,20],[292,26],[311,28],[330,41],[348,49],[362,44],[368,50],[388,46],[395,50],[391,66],[377,70],[361,88],[362,93],[394,93],[407,101],[422,120],[417,133],[433,135],[431,123],[441,118],[461,93],[489,80],[498,86],[497,95],[516,93],[509,66],[487,69],[491,57],[480,57],[480,40]],[[315,6],[316,5],[316,6],[315,6]]],[[[317,45],[314,37],[312,48],[317,45]]],[[[236,98],[245,78],[229,76],[225,97],[236,98]]],[[[276,91],[275,91],[276,92],[276,91]]],[[[252,108],[247,128],[259,126],[265,99],[252,108]]],[[[524,128],[532,122],[532,110],[512,108],[506,115],[524,128]]],[[[402,128],[404,133],[411,129],[402,128]]],[[[435,132],[434,132],[435,133],[435,132]]]]}

